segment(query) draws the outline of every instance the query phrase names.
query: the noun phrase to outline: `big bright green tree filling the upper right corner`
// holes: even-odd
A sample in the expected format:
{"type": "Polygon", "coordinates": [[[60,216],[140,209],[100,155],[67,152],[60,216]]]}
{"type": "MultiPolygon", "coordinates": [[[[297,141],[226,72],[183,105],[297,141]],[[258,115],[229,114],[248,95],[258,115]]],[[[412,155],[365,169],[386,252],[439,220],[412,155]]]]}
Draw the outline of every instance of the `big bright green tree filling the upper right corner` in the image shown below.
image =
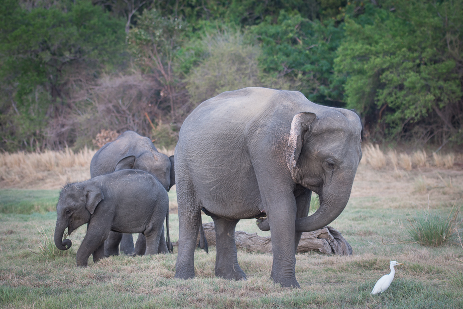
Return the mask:
{"type": "Polygon", "coordinates": [[[377,137],[463,142],[461,1],[386,1],[347,17],[336,72],[348,108],[377,137]],[[411,135],[411,136],[410,136],[411,135]]]}

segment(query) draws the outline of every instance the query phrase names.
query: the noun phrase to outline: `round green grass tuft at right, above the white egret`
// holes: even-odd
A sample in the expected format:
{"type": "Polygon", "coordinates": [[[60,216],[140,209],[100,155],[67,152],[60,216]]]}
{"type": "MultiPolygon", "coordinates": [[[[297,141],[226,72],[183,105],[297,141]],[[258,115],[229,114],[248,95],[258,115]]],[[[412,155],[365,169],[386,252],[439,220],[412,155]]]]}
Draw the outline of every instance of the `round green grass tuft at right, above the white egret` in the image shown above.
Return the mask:
{"type": "Polygon", "coordinates": [[[412,240],[424,246],[439,247],[455,238],[460,222],[458,221],[459,210],[449,213],[447,218],[431,214],[428,211],[417,213],[411,219],[408,233],[412,240]]]}

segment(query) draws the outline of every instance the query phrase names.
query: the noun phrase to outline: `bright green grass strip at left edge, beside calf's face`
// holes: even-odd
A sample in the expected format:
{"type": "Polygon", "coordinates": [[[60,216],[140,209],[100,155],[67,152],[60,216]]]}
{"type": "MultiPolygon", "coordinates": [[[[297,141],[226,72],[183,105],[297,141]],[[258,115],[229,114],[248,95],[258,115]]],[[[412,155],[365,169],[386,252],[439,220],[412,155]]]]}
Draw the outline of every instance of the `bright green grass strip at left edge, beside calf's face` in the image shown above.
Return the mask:
{"type": "Polygon", "coordinates": [[[0,189],[0,213],[56,211],[59,190],[0,189]]]}

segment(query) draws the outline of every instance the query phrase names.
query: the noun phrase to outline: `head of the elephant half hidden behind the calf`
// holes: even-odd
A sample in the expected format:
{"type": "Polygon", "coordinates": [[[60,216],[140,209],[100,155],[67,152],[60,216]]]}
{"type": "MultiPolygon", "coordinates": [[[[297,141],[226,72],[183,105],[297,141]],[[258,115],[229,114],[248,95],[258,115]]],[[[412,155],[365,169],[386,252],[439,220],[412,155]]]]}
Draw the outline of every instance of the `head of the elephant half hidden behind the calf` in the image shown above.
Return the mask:
{"type": "Polygon", "coordinates": [[[175,184],[174,156],[170,157],[151,150],[138,157],[129,155],[122,158],[116,165],[117,170],[140,169],[156,177],[163,187],[169,191],[175,184]]]}

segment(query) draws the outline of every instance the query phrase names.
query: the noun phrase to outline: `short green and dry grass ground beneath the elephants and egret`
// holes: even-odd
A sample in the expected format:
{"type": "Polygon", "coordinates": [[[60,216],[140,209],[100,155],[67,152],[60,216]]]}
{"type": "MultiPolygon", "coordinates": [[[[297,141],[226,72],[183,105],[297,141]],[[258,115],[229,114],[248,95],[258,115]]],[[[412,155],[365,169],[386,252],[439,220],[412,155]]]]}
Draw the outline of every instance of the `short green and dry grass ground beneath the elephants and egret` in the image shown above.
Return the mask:
{"type": "MultiPolygon", "coordinates": [[[[458,238],[434,248],[408,235],[412,217],[427,212],[447,218],[463,205],[460,165],[376,170],[361,164],[346,210],[331,224],[353,255],[298,254],[301,289],[272,283],[269,254],[238,251],[245,282],[215,278],[215,248],[209,254],[196,251],[197,277],[186,281],[173,278],[177,248],[174,254],[118,256],[96,264],[90,258],[88,268],[77,268],[75,252],[85,227],[70,236],[69,254],[43,251],[53,235],[56,213],[49,210],[57,196],[57,188],[0,190],[0,308],[463,308],[458,238]],[[404,265],[396,267],[385,293],[370,296],[376,280],[389,272],[389,260],[404,265]]],[[[169,196],[176,241],[175,192],[169,196]]],[[[237,229],[268,235],[255,220],[241,220],[237,229]]]]}

